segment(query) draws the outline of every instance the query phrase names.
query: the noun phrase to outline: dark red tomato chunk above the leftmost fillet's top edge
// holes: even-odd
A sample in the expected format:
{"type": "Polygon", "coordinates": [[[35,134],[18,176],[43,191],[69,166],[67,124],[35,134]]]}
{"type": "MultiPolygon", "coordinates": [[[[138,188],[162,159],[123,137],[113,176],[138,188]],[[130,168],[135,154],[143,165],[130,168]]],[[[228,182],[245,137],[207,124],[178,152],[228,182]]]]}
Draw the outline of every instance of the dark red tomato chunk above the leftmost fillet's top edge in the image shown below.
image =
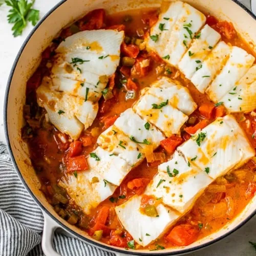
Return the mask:
{"type": "Polygon", "coordinates": [[[102,29],[105,27],[105,11],[103,9],[97,9],[89,12],[79,21],[79,29],[83,30],[94,30],[102,29]]]}

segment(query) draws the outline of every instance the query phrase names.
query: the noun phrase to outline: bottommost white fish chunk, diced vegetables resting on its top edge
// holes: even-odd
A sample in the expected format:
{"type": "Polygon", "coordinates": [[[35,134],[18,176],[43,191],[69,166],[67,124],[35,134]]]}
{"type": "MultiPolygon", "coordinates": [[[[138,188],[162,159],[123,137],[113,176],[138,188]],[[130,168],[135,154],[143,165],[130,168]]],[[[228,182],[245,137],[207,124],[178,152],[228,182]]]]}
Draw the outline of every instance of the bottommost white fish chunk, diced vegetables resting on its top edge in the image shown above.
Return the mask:
{"type": "Polygon", "coordinates": [[[169,207],[159,204],[156,209],[159,217],[149,217],[140,211],[141,196],[134,196],[127,202],[115,207],[119,221],[134,240],[146,246],[174,224],[180,215],[169,207]]]}

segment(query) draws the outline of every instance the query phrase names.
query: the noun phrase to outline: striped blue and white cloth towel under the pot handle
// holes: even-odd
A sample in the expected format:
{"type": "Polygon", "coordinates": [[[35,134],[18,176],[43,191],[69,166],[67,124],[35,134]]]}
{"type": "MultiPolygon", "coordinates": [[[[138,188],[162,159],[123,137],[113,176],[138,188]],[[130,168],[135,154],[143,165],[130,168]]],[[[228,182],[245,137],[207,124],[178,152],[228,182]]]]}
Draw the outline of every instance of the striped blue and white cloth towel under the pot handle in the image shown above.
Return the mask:
{"type": "MultiPolygon", "coordinates": [[[[42,256],[44,218],[0,144],[0,256],[42,256]]],[[[56,234],[56,251],[63,256],[114,256],[79,240],[56,234]]]]}

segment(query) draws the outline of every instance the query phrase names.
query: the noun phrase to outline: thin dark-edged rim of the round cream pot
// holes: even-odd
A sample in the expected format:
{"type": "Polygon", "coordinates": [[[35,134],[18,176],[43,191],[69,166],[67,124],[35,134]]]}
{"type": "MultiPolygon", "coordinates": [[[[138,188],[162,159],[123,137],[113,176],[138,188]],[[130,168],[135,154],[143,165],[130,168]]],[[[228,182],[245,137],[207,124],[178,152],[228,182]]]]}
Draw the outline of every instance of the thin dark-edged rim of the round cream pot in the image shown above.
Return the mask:
{"type": "MultiPolygon", "coordinates": [[[[15,69],[17,66],[17,63],[19,61],[20,56],[22,55],[24,49],[26,48],[30,38],[33,36],[33,34],[36,32],[36,30],[40,27],[40,25],[42,23],[44,23],[44,21],[57,9],[59,8],[62,4],[66,3],[68,0],[61,0],[58,4],[56,4],[50,11],[48,11],[44,17],[42,17],[39,22],[36,24],[36,26],[32,29],[32,31],[29,33],[28,37],[26,38],[26,40],[24,41],[22,47],[20,48],[20,50],[17,53],[17,56],[13,62],[13,66],[11,68],[11,72],[7,81],[7,87],[6,87],[6,92],[5,92],[5,100],[4,100],[4,129],[5,129],[5,137],[6,137],[6,144],[7,144],[7,148],[8,148],[8,152],[11,158],[11,161],[14,165],[14,168],[16,170],[16,173],[19,177],[19,179],[22,181],[23,185],[25,186],[26,190],[28,191],[28,193],[30,194],[30,196],[34,199],[34,201],[36,202],[36,204],[40,207],[40,209],[44,212],[46,212],[46,214],[53,219],[59,226],[61,226],[61,228],[63,228],[64,230],[68,231],[69,233],[71,233],[73,236],[77,237],[80,241],[84,241],[90,245],[96,246],[100,249],[106,250],[106,251],[110,251],[110,252],[119,252],[119,253],[125,253],[125,254],[130,254],[130,255],[153,255],[153,256],[167,256],[167,255],[182,255],[182,254],[186,254],[189,252],[194,252],[194,251],[198,251],[200,249],[206,248],[212,244],[215,244],[219,241],[221,241],[222,239],[226,238],[227,236],[229,236],[231,233],[237,231],[239,228],[241,228],[244,224],[246,224],[250,219],[252,219],[252,217],[254,217],[254,215],[256,215],[256,209],[245,219],[243,220],[237,227],[229,230],[228,232],[226,232],[225,234],[223,234],[222,236],[220,236],[219,238],[216,238],[214,240],[210,240],[207,243],[204,243],[202,245],[198,245],[194,248],[189,248],[189,249],[181,249],[181,251],[174,251],[174,252],[158,252],[158,253],[148,253],[148,251],[145,252],[136,252],[136,250],[130,251],[130,250],[121,250],[118,249],[118,247],[110,247],[104,244],[99,244],[97,242],[95,242],[94,240],[88,239],[86,237],[81,236],[80,234],[78,234],[77,232],[75,232],[73,229],[67,227],[66,225],[62,224],[58,219],[56,219],[50,212],[49,210],[43,205],[41,204],[41,202],[36,198],[36,196],[33,194],[33,192],[31,191],[29,185],[26,183],[25,179],[23,178],[22,174],[20,173],[20,170],[17,166],[17,163],[15,161],[15,157],[12,153],[12,149],[11,149],[11,143],[10,143],[10,138],[9,138],[9,134],[8,134],[8,123],[7,123],[7,109],[8,109],[8,96],[9,96],[9,91],[10,91],[10,87],[11,87],[11,82],[12,82],[12,78],[13,75],[15,73],[15,69]]],[[[256,15],[254,15],[246,6],[244,6],[242,3],[240,3],[238,0],[231,0],[232,2],[234,2],[235,4],[237,4],[238,6],[240,6],[243,10],[245,10],[252,18],[254,18],[256,20],[256,15]]]]}

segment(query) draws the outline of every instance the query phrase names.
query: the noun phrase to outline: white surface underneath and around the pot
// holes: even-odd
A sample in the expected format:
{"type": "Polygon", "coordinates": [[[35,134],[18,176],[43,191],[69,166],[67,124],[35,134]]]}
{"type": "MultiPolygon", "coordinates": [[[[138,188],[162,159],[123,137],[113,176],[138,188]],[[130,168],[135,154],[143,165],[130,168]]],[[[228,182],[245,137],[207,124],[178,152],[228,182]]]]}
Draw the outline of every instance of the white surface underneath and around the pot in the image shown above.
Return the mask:
{"type": "MultiPolygon", "coordinates": [[[[35,9],[40,10],[40,17],[42,17],[58,2],[58,0],[37,0],[34,7],[35,9]]],[[[248,0],[241,0],[241,2],[249,7],[248,0]]],[[[6,83],[16,54],[32,29],[32,25],[29,25],[25,29],[22,36],[14,38],[11,32],[11,25],[8,24],[6,19],[7,12],[8,8],[5,5],[0,7],[0,141],[4,142],[3,102],[5,97],[6,83]]],[[[241,229],[234,232],[221,242],[198,252],[191,253],[189,256],[256,255],[255,250],[248,243],[248,241],[256,242],[256,216],[241,229]]]]}

